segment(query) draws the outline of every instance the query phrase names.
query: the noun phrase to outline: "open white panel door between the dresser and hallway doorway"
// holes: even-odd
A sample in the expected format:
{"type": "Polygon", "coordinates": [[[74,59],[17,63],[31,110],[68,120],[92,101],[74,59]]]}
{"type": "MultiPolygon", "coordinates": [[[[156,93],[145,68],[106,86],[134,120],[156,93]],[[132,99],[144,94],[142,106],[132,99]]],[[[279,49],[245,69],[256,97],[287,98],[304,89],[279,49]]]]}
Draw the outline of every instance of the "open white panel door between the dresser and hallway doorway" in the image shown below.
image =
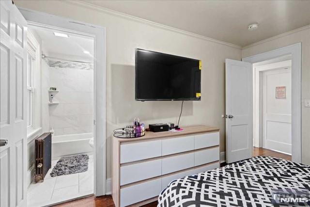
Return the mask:
{"type": "Polygon", "coordinates": [[[252,157],[252,64],[226,59],[226,161],[252,157]]]}

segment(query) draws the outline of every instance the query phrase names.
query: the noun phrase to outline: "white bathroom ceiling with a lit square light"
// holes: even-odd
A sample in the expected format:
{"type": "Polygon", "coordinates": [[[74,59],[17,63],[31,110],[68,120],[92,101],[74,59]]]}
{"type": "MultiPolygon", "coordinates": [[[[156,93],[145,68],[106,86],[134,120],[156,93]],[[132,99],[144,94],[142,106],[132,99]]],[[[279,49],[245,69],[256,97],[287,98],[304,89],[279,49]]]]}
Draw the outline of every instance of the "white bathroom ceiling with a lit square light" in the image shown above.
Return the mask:
{"type": "Polygon", "coordinates": [[[66,37],[55,36],[53,32],[59,32],[48,29],[31,28],[34,30],[42,40],[42,50],[47,56],[53,56],[57,58],[65,58],[75,61],[93,61],[93,46],[94,42],[92,38],[79,36],[72,33],[66,37]],[[89,51],[90,54],[85,54],[84,51],[89,51]]]}

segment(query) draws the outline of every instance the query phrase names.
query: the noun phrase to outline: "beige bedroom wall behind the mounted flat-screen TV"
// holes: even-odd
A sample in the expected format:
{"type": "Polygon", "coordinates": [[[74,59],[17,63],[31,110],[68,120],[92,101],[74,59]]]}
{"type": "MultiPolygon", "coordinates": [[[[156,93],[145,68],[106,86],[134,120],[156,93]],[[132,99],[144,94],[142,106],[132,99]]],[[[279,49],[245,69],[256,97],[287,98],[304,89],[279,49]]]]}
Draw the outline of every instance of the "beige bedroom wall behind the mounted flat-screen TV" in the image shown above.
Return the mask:
{"type": "Polygon", "coordinates": [[[23,8],[100,25],[107,28],[107,177],[111,176],[111,138],[115,128],[140,117],[145,124],[176,122],[179,101],[135,101],[135,48],[202,60],[202,101],[186,101],[180,125],[220,128],[220,151],[225,151],[225,58],[241,60],[241,49],[197,35],[156,26],[63,1],[16,1],[23,8]]]}

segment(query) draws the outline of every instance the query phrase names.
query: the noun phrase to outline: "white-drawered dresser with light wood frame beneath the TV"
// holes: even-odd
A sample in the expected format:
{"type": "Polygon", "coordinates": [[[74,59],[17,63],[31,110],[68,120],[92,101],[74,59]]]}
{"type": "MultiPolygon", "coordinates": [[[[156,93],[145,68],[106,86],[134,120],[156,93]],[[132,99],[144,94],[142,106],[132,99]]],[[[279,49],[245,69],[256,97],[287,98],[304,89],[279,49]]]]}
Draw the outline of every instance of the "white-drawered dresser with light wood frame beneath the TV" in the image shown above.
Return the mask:
{"type": "Polygon", "coordinates": [[[168,184],[219,167],[219,129],[184,127],[182,132],[146,132],[113,138],[112,197],[116,207],[157,200],[168,184]]]}

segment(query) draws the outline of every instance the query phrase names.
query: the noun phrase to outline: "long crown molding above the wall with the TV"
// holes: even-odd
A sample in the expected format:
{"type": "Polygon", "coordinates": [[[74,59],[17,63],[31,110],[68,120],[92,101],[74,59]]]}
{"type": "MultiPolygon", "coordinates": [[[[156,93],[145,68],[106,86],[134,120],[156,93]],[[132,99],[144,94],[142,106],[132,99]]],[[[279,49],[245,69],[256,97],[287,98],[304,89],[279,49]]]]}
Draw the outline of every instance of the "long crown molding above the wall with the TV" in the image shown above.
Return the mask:
{"type": "Polygon", "coordinates": [[[166,25],[163,25],[163,24],[155,23],[153,21],[149,21],[149,20],[146,20],[146,19],[143,19],[143,18],[140,18],[140,17],[127,15],[127,14],[124,14],[122,12],[117,12],[117,11],[114,11],[114,10],[111,10],[111,9],[107,9],[107,8],[104,8],[104,7],[93,5],[92,3],[89,3],[89,2],[85,2],[85,1],[81,1],[81,0],[66,0],[65,2],[70,3],[70,4],[74,4],[74,5],[78,5],[78,6],[81,6],[81,7],[84,7],[84,8],[86,7],[88,9],[92,9],[92,10],[95,10],[95,11],[98,11],[98,12],[103,12],[103,13],[106,13],[106,14],[109,14],[109,15],[112,15],[112,16],[118,16],[118,17],[122,17],[122,18],[125,18],[125,19],[130,19],[130,20],[142,23],[142,24],[147,24],[147,25],[150,25],[150,26],[153,26],[153,27],[157,27],[157,28],[160,28],[160,29],[164,29],[164,30],[167,30],[167,31],[177,32],[177,33],[185,34],[185,35],[188,35],[188,36],[191,36],[191,37],[199,38],[199,39],[202,39],[202,40],[205,40],[205,41],[218,43],[218,44],[225,45],[225,46],[232,47],[232,48],[242,49],[242,47],[239,46],[239,45],[235,45],[235,44],[232,44],[232,43],[228,43],[228,42],[224,42],[224,41],[221,41],[221,40],[213,39],[213,38],[206,37],[206,36],[203,36],[203,35],[200,35],[200,34],[196,34],[196,33],[193,33],[193,32],[187,32],[187,31],[180,30],[180,29],[177,29],[177,28],[174,28],[174,27],[170,27],[170,26],[166,26],[166,25]]]}

